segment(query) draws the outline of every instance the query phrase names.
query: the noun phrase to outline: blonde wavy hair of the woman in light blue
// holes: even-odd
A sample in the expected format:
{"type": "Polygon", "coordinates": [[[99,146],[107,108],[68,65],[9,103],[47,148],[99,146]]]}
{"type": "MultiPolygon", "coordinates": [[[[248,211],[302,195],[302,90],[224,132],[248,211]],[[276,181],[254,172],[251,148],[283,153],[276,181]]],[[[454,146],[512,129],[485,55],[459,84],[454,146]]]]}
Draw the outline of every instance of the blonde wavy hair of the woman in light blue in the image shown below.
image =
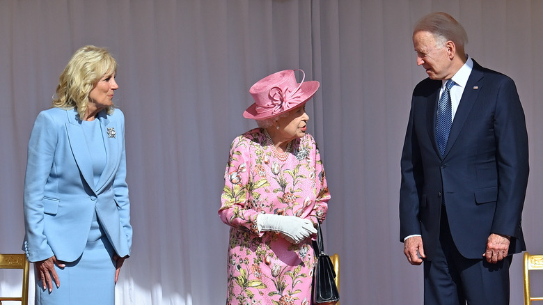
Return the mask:
{"type": "MultiPolygon", "coordinates": [[[[88,94],[104,75],[114,75],[116,72],[117,62],[107,49],[93,45],[79,48],[58,77],[53,107],[76,109],[79,118],[83,119],[88,94]]],[[[107,113],[113,113],[113,105],[107,109],[107,113]]]]}

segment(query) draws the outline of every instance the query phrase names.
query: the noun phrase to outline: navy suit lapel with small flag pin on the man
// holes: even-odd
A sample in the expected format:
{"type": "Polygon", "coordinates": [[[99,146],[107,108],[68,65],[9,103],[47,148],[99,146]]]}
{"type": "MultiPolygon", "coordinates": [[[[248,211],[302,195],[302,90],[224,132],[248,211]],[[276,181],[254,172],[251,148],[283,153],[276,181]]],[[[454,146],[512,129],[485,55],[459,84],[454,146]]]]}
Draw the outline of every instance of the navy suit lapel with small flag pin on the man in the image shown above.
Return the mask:
{"type": "Polygon", "coordinates": [[[464,93],[462,93],[462,98],[458,104],[455,119],[453,120],[453,126],[450,127],[450,134],[447,141],[447,147],[445,149],[445,155],[447,155],[455,144],[462,127],[464,127],[464,123],[466,123],[466,119],[468,118],[469,113],[473,108],[473,104],[475,104],[475,101],[477,100],[479,91],[482,88],[482,78],[483,73],[480,70],[480,65],[473,61],[473,70],[471,70],[471,75],[469,75],[466,88],[464,88],[464,93]]]}

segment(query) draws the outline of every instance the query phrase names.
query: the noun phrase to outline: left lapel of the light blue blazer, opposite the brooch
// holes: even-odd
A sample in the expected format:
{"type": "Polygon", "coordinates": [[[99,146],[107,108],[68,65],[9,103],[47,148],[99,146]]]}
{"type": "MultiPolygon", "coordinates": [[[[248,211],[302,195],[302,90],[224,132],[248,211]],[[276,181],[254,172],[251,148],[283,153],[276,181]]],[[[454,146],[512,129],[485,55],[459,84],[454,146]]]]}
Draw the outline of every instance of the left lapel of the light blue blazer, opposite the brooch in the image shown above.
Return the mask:
{"type": "Polygon", "coordinates": [[[75,162],[79,168],[79,172],[87,182],[88,186],[94,191],[93,164],[91,161],[91,153],[88,151],[88,144],[85,139],[85,134],[81,123],[77,119],[77,111],[74,109],[67,110],[68,123],[66,130],[68,132],[68,142],[75,162]]]}

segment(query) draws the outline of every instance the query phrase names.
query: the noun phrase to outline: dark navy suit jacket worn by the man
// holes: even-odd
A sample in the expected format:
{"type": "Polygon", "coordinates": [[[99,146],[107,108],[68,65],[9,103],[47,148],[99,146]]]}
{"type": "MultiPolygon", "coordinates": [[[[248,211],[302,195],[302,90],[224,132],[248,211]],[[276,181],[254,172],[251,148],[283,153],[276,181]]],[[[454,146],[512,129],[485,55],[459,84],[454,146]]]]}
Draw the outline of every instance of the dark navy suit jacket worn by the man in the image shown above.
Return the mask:
{"type": "Polygon", "coordinates": [[[441,84],[424,79],[414,89],[401,159],[400,240],[422,235],[432,260],[444,203],[462,256],[481,259],[491,233],[512,237],[510,254],[525,250],[528,135],[514,81],[473,61],[443,157],[435,136],[441,84]]]}

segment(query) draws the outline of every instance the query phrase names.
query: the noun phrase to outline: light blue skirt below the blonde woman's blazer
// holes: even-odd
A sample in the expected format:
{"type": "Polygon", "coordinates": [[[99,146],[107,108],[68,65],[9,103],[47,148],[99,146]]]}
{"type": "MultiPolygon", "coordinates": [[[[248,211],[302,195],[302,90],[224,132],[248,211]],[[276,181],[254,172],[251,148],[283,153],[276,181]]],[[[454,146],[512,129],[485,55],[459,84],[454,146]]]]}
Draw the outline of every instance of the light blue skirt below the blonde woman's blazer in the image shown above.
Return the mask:
{"type": "Polygon", "coordinates": [[[81,257],[74,262],[65,263],[66,267],[63,269],[55,265],[61,286],[56,288],[53,283],[53,291],[49,293],[49,290],[43,289],[42,281],[36,281],[36,305],[115,304],[113,254],[113,247],[95,214],[81,257]]]}

